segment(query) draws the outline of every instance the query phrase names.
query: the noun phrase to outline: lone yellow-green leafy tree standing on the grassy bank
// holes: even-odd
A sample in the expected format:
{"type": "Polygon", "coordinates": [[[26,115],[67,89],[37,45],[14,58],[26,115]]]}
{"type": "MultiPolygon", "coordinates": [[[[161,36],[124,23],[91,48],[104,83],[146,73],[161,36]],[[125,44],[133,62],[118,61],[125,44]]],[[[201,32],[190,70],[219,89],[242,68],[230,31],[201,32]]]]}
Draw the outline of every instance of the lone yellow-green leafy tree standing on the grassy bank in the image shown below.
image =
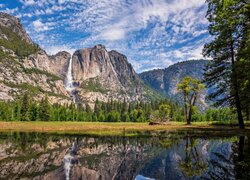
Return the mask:
{"type": "Polygon", "coordinates": [[[184,111],[187,124],[191,124],[193,109],[201,90],[205,88],[197,79],[191,77],[183,78],[182,82],[177,85],[178,91],[182,93],[184,100],[184,111]]]}

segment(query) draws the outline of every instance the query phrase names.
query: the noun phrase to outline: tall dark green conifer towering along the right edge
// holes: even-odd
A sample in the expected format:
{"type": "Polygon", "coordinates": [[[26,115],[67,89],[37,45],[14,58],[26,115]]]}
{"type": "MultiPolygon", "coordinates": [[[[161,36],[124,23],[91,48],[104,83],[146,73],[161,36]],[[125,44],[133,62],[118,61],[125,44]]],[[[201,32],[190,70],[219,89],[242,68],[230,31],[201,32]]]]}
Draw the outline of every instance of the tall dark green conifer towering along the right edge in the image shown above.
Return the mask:
{"type": "MultiPolygon", "coordinates": [[[[207,0],[207,19],[210,22],[209,33],[213,40],[206,44],[203,54],[212,58],[206,68],[205,81],[215,92],[209,98],[218,106],[230,104],[236,108],[239,127],[244,128],[241,94],[247,76],[241,76],[240,62],[249,52],[249,2],[244,0],[207,0]],[[247,13],[248,12],[248,13],[247,13]],[[247,30],[248,29],[248,30],[247,30]]],[[[249,71],[249,69],[247,70],[249,71]]],[[[243,73],[244,74],[244,73],[243,73]]],[[[244,92],[246,92],[244,90],[244,92]]],[[[250,93],[248,91],[248,93],[250,93]]],[[[247,94],[248,94],[247,93],[247,94]]]]}

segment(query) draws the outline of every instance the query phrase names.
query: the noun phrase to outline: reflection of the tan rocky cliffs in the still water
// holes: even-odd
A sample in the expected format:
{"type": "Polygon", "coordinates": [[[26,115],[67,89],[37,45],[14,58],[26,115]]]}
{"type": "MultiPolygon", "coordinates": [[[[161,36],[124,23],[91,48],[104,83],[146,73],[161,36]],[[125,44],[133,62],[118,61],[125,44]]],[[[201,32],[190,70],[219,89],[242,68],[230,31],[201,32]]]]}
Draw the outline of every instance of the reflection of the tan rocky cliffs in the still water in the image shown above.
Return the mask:
{"type": "Polygon", "coordinates": [[[73,140],[52,137],[45,147],[44,142],[34,141],[22,148],[22,142],[6,140],[0,145],[0,177],[65,179],[68,173],[69,179],[133,179],[140,164],[154,155],[154,148],[146,139],[137,142],[127,138],[80,138],[77,150],[72,146],[73,140]],[[69,172],[65,171],[67,161],[69,172]]]}

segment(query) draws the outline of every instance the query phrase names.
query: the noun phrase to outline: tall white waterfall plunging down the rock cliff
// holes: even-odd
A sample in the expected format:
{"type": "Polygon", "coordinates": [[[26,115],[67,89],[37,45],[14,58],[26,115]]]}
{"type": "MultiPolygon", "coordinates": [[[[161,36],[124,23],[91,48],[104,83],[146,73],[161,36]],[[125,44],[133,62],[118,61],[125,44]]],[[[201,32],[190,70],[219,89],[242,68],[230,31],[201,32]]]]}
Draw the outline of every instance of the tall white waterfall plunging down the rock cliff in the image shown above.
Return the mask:
{"type": "Polygon", "coordinates": [[[75,95],[74,95],[74,82],[73,82],[73,75],[72,75],[72,56],[69,60],[69,66],[67,70],[66,80],[65,80],[65,88],[70,93],[72,100],[75,102],[75,95]]]}

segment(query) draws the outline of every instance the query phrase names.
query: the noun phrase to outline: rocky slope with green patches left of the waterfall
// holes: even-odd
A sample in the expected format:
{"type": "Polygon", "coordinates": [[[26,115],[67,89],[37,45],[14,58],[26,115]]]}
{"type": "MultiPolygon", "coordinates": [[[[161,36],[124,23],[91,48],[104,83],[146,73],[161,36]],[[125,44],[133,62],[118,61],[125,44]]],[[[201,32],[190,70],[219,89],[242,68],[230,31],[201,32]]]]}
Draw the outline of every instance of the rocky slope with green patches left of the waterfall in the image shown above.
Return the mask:
{"type": "Polygon", "coordinates": [[[70,103],[64,78],[70,54],[48,56],[31,41],[19,19],[0,13],[0,100],[14,100],[28,92],[39,100],[70,103]]]}

